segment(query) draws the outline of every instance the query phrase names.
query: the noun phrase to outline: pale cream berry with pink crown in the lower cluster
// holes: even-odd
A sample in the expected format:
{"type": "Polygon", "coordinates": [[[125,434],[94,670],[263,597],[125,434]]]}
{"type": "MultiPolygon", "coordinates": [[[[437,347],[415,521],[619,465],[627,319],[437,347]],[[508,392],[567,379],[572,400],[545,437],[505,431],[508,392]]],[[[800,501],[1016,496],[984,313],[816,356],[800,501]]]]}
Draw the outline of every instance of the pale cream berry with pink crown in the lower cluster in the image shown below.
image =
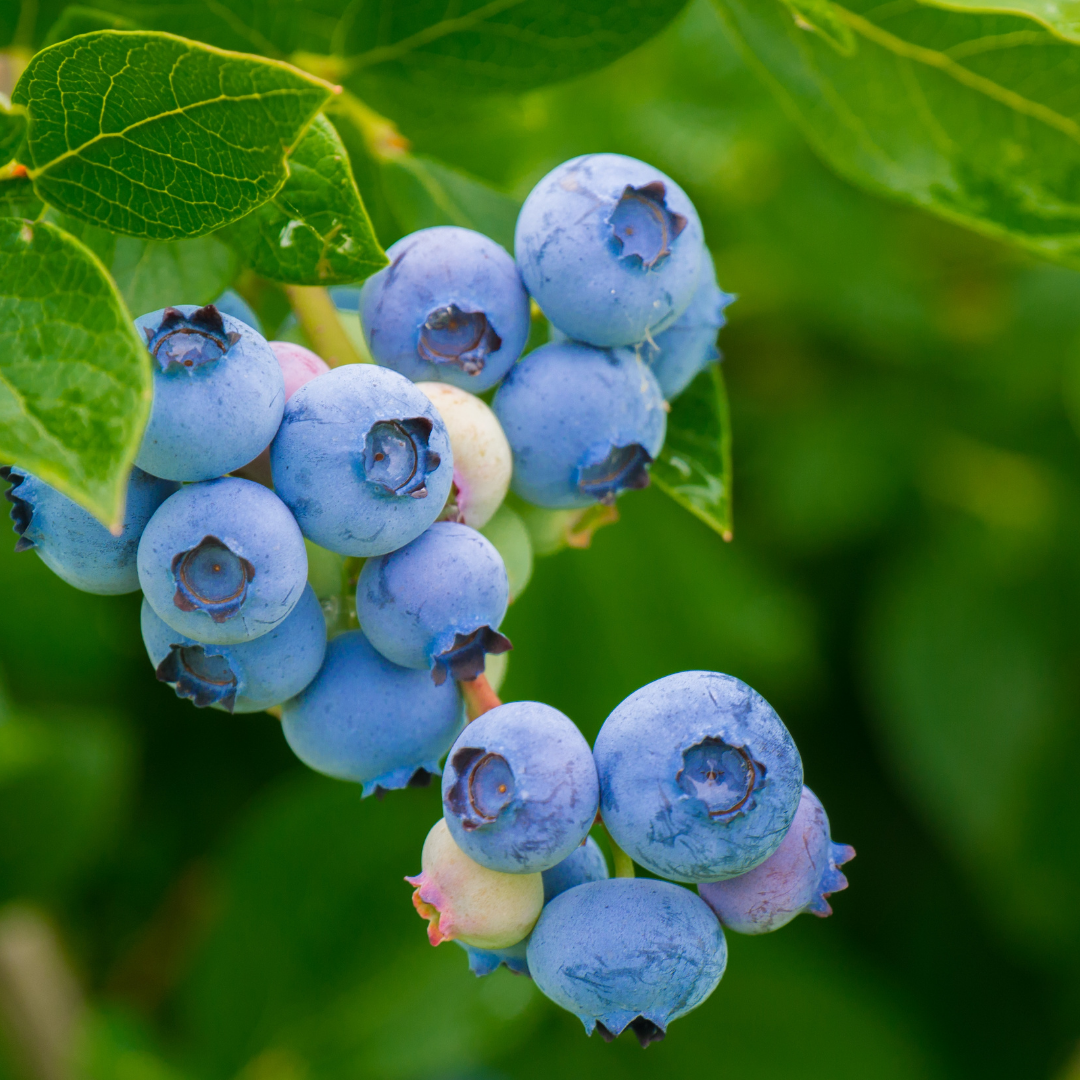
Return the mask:
{"type": "Polygon", "coordinates": [[[459,941],[487,950],[508,948],[528,935],[543,906],[539,874],[500,874],[474,863],[444,821],[423,841],[420,865],[420,873],[405,880],[416,886],[413,904],[429,920],[432,945],[459,941]]]}

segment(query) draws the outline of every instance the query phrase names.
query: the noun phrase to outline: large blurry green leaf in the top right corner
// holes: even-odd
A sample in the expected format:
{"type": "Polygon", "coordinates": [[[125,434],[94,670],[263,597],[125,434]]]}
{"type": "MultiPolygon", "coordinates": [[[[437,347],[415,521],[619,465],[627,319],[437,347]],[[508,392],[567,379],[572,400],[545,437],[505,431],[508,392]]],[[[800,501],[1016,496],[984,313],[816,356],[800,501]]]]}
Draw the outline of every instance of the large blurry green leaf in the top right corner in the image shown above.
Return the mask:
{"type": "Polygon", "coordinates": [[[843,176],[1080,266],[1080,51],[1012,15],[715,2],[843,176]],[[838,26],[850,49],[826,32],[838,26]]]}

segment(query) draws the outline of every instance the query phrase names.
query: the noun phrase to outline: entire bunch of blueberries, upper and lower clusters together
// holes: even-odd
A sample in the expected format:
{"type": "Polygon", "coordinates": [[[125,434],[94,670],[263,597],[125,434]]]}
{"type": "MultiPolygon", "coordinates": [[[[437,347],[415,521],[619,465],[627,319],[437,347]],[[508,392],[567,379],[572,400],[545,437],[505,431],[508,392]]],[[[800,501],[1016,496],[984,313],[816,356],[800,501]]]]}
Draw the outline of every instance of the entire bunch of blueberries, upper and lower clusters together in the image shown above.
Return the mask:
{"type": "Polygon", "coordinates": [[[280,711],[296,755],[364,795],[442,772],[410,879],[431,941],[648,1043],[716,986],[721,922],[827,914],[851,852],[737,679],[645,687],[594,750],[558,711],[495,697],[485,672],[531,565],[509,489],[575,511],[645,486],[665,397],[717,357],[732,299],[689,199],[630,158],[554,170],[515,246],[459,228],[394,244],[352,291],[375,363],[332,370],[268,342],[234,295],[137,319],[153,404],[117,534],[2,474],[18,550],[90,592],[141,590],[147,652],[178,696],[280,711]],[[532,301],[552,340],[522,359],[532,301]],[[670,880],[609,879],[598,813],[625,863],[670,880]]]}

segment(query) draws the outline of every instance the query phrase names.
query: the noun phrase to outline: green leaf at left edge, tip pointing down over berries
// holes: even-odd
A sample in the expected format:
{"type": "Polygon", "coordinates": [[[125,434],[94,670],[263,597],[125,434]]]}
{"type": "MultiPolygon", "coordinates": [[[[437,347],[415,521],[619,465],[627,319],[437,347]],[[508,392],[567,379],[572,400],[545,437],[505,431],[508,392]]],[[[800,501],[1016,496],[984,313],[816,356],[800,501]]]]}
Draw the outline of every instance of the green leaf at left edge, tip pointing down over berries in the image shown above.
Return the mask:
{"type": "Polygon", "coordinates": [[[55,226],[0,220],[0,460],[119,524],[150,395],[149,354],[100,261],[55,226]]]}

